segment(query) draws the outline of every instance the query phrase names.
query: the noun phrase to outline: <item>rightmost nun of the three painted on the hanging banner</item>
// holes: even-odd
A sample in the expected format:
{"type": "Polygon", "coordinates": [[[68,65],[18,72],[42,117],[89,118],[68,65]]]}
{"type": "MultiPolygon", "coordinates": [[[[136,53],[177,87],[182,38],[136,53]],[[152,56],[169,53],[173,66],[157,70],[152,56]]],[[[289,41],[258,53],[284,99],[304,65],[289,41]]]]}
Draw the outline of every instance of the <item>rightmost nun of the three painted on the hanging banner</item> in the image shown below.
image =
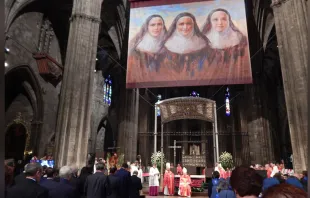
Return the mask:
{"type": "Polygon", "coordinates": [[[236,63],[246,53],[247,37],[234,25],[229,12],[212,10],[202,27],[202,33],[210,40],[215,51],[213,60],[218,63],[236,63]]]}

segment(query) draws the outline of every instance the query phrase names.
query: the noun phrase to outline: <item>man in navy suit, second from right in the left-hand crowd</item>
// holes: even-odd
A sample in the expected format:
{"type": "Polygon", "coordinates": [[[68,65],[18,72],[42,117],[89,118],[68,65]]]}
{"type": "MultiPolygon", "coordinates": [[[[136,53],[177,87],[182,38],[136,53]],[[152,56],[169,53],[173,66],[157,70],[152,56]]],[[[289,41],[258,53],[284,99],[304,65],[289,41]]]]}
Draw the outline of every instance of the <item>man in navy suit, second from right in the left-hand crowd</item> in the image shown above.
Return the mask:
{"type": "Polygon", "coordinates": [[[128,164],[123,163],[122,168],[115,175],[121,180],[121,198],[129,198],[131,179],[128,164]]]}

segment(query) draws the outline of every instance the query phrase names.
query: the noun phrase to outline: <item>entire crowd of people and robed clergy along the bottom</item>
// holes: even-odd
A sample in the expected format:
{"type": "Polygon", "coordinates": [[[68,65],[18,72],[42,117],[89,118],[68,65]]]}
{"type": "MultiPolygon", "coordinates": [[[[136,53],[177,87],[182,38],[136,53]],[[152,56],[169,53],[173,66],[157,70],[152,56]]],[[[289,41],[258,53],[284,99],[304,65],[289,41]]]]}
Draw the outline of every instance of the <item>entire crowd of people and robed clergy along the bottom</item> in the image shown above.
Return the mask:
{"type": "MultiPolygon", "coordinates": [[[[14,172],[14,166],[6,164],[6,197],[138,198],[142,195],[143,180],[148,181],[150,196],[158,196],[162,192],[166,196],[191,197],[193,182],[187,169],[178,164],[178,176],[175,176],[171,166],[166,163],[160,189],[157,165],[153,164],[148,175],[143,178],[145,173],[142,173],[138,161],[123,163],[121,167],[107,167],[103,159],[96,159],[94,167],[86,166],[81,170],[74,166],[63,166],[60,169],[42,167],[39,163],[31,162],[15,177],[9,177],[9,173],[14,172]],[[179,183],[175,184],[176,181],[179,183]]],[[[240,166],[227,171],[221,164],[217,164],[207,183],[209,198],[280,198],[282,195],[305,198],[308,175],[307,171],[294,173],[285,169],[281,163],[270,163],[264,167],[258,164],[240,166]],[[265,172],[265,176],[262,172],[265,172]]]]}

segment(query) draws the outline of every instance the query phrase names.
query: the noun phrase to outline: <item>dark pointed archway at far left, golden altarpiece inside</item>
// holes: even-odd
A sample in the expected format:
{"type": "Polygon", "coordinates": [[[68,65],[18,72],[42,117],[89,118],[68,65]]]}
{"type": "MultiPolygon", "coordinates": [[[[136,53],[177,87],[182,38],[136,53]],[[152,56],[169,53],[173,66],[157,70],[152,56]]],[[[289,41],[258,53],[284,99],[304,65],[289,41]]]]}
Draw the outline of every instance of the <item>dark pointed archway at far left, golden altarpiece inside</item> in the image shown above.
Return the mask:
{"type": "MultiPolygon", "coordinates": [[[[24,125],[26,127],[26,134],[28,135],[26,137],[20,135],[16,139],[17,142],[14,143],[14,146],[10,148],[7,148],[6,145],[6,157],[12,156],[14,153],[13,149],[15,149],[16,156],[14,156],[14,159],[24,159],[25,146],[28,152],[36,154],[39,148],[41,121],[44,117],[43,106],[40,84],[33,70],[28,65],[14,67],[7,71],[5,74],[5,120],[6,126],[8,127],[6,138],[12,142],[14,140],[14,130],[23,130],[20,125],[16,124],[24,125]],[[31,138],[30,134],[32,134],[31,138]],[[7,149],[10,150],[10,154],[7,153],[7,149]],[[21,152],[21,150],[23,151],[21,152]]],[[[5,140],[6,144],[8,140],[5,140]]]]}

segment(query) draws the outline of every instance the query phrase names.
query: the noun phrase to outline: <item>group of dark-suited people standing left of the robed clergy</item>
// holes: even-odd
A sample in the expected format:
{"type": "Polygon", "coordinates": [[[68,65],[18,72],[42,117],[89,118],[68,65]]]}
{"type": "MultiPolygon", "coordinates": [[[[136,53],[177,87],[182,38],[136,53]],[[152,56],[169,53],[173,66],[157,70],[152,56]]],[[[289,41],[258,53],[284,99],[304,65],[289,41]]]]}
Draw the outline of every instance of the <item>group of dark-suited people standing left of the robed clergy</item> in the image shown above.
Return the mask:
{"type": "Polygon", "coordinates": [[[80,171],[74,166],[59,170],[29,163],[24,171],[10,177],[14,166],[6,165],[7,198],[138,198],[142,190],[138,171],[131,174],[127,163],[120,169],[107,171],[102,162],[94,167],[86,166],[80,171]],[[80,172],[80,173],[79,173],[80,172]],[[78,174],[79,173],[79,174],[78,174]]]}

